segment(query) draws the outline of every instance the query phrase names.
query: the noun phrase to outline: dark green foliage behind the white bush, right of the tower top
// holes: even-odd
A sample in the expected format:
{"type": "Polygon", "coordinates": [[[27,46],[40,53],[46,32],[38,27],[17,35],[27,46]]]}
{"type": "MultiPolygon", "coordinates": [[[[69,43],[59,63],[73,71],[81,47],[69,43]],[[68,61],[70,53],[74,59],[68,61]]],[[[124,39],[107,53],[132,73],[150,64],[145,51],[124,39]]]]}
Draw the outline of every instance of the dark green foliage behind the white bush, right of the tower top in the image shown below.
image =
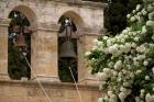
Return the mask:
{"type": "Polygon", "coordinates": [[[128,25],[125,15],[139,3],[143,3],[142,0],[112,0],[112,3],[109,3],[105,9],[105,27],[110,35],[117,35],[125,29],[128,25]]]}

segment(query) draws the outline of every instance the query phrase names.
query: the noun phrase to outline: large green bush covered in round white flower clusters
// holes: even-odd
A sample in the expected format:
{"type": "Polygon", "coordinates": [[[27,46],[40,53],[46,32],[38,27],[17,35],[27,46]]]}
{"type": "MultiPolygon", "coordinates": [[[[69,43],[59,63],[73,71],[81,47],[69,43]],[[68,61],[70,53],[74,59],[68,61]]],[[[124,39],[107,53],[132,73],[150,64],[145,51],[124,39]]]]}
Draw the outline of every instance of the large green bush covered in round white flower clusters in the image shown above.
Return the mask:
{"type": "Polygon", "coordinates": [[[86,53],[91,73],[107,94],[98,102],[154,102],[154,0],[128,14],[130,26],[94,41],[86,53]]]}

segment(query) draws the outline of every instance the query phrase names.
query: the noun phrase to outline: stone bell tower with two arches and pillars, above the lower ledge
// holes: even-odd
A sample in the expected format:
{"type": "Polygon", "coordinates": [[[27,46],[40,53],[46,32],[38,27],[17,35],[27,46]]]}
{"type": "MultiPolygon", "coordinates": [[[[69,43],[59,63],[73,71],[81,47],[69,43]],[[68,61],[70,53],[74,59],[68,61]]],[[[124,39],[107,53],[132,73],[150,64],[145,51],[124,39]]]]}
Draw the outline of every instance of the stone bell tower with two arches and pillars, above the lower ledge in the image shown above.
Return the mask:
{"type": "Polygon", "coordinates": [[[0,1],[0,79],[8,75],[8,26],[12,10],[22,12],[31,23],[31,80],[59,81],[58,77],[58,20],[65,15],[76,24],[78,83],[94,83],[85,53],[92,39],[103,35],[106,4],[82,0],[11,0],[0,1]]]}

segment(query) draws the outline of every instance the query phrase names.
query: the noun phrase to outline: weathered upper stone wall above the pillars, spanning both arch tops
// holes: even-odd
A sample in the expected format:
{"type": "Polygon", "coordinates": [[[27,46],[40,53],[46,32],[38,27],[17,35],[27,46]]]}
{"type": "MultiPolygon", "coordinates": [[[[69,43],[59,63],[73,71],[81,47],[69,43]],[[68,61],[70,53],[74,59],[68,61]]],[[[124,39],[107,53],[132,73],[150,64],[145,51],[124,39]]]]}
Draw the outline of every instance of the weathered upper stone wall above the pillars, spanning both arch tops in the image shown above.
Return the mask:
{"type": "Polygon", "coordinates": [[[0,18],[8,19],[12,10],[18,10],[26,15],[34,27],[43,24],[57,24],[62,15],[72,18],[78,27],[103,29],[103,8],[106,4],[80,1],[69,3],[64,0],[10,0],[0,3],[0,18]]]}

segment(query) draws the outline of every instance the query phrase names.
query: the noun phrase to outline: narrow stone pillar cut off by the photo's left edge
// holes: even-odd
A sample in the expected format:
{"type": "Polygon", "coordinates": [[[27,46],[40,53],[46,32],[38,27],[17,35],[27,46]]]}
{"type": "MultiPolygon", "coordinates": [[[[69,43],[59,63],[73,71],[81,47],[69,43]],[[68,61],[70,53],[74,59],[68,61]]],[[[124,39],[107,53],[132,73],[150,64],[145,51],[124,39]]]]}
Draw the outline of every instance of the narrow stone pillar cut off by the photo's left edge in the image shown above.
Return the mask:
{"type": "Polygon", "coordinates": [[[8,80],[8,26],[10,20],[0,20],[0,79],[8,80]]]}

